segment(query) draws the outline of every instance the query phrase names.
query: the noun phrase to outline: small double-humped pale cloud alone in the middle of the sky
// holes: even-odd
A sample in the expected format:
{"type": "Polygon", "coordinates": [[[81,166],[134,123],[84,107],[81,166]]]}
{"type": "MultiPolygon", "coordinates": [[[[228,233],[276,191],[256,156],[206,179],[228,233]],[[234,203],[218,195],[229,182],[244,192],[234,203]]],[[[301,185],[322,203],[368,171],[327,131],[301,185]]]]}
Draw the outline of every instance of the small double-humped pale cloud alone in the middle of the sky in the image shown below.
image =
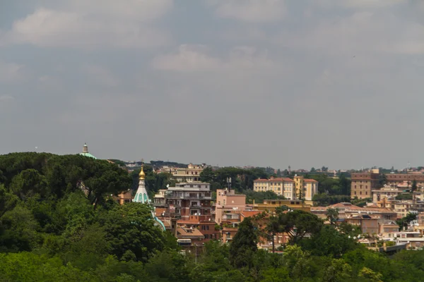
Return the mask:
{"type": "Polygon", "coordinates": [[[239,71],[272,66],[266,51],[258,51],[254,47],[234,47],[228,56],[223,58],[211,56],[203,45],[179,46],[177,53],[156,56],[153,68],[165,71],[223,71],[239,69],[239,71]]]}

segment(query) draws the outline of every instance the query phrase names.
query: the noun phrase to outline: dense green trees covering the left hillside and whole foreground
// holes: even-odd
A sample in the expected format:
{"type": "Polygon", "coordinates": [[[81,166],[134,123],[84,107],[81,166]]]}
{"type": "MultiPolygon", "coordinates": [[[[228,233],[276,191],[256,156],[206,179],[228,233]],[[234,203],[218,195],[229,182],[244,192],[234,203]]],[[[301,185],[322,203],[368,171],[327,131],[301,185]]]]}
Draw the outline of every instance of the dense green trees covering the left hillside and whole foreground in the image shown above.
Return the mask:
{"type": "Polygon", "coordinates": [[[408,282],[424,276],[424,251],[388,258],[356,243],[354,226],[324,225],[283,208],[245,219],[232,243],[206,243],[195,259],[155,226],[150,206],[111,199],[129,188],[131,176],[107,161],[0,156],[0,281],[408,282]],[[258,250],[257,242],[280,232],[289,232],[282,255],[258,250]]]}

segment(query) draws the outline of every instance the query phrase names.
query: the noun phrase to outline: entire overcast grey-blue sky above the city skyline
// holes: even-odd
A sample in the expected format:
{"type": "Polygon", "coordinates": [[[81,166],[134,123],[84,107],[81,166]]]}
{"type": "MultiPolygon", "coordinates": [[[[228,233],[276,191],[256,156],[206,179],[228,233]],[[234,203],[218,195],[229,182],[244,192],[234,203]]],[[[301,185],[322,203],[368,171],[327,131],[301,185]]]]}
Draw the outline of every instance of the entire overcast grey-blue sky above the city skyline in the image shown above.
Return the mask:
{"type": "Polygon", "coordinates": [[[0,154],[423,166],[423,86],[424,1],[0,0],[0,154]]]}

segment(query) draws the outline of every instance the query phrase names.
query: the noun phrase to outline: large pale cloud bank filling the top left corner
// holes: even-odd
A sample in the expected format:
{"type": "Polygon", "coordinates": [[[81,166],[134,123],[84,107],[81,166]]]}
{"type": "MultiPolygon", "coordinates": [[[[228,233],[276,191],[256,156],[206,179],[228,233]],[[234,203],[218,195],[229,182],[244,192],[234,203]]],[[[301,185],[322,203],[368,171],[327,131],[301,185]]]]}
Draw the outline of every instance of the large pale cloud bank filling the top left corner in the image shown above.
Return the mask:
{"type": "Polygon", "coordinates": [[[170,36],[154,21],[172,7],[171,0],[66,1],[59,8],[37,8],[16,20],[0,37],[3,44],[40,47],[156,47],[170,36]]]}

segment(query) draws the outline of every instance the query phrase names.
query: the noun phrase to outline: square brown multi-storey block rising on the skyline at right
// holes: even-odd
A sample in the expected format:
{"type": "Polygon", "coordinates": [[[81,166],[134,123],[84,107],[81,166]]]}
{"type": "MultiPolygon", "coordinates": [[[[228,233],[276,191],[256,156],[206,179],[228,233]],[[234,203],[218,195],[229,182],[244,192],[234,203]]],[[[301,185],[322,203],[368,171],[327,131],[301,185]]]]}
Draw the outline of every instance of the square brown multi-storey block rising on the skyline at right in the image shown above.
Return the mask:
{"type": "Polygon", "coordinates": [[[352,173],[351,197],[365,199],[372,197],[372,190],[379,188],[379,170],[372,169],[369,172],[352,173]]]}

